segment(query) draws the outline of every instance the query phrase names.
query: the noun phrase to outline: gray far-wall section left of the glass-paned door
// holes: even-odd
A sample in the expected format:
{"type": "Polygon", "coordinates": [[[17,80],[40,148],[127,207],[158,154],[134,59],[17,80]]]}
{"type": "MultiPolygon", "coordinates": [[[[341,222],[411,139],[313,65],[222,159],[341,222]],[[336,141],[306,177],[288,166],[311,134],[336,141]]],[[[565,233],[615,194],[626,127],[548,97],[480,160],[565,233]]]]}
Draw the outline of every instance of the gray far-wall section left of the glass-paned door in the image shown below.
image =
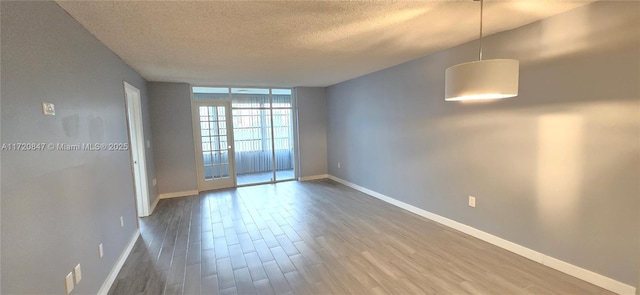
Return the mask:
{"type": "Polygon", "coordinates": [[[191,86],[150,82],[149,100],[160,194],[198,190],[191,86]]]}

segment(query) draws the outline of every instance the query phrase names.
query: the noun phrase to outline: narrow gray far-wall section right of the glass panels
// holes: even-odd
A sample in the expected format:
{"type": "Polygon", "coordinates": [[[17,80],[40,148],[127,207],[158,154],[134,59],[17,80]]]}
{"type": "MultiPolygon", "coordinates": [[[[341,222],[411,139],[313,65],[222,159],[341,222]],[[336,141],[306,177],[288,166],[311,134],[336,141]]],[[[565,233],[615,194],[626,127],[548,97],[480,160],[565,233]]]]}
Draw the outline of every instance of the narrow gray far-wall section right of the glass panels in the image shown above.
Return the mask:
{"type": "Polygon", "coordinates": [[[328,173],[327,100],[320,87],[294,88],[298,106],[300,177],[328,173]]]}

